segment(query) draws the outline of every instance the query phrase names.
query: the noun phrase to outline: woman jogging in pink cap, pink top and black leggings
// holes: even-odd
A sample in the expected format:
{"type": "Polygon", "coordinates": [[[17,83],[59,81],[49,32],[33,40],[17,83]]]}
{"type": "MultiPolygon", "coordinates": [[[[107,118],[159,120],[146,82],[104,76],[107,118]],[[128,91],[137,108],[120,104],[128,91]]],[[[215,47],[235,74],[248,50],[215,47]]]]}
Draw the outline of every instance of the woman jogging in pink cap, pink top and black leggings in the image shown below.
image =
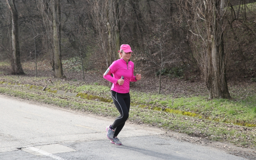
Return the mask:
{"type": "Polygon", "coordinates": [[[130,82],[141,79],[140,74],[133,75],[134,64],[130,61],[132,50],[128,44],[122,44],[118,50],[120,59],[115,60],[103,75],[103,78],[113,83],[111,87],[111,97],[120,115],[113,124],[106,127],[107,138],[111,143],[121,145],[117,135],[122,130],[129,117],[130,110],[130,82]],[[113,77],[111,76],[113,74],[113,77]]]}

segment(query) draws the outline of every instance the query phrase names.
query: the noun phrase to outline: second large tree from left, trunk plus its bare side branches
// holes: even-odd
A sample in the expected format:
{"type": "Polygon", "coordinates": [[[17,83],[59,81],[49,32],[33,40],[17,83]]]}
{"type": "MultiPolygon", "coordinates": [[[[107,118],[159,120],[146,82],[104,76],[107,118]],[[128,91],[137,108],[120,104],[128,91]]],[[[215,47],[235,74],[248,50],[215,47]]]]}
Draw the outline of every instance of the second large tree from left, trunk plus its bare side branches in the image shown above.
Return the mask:
{"type": "Polygon", "coordinates": [[[65,78],[61,54],[61,10],[60,0],[40,0],[37,7],[43,19],[43,46],[50,53],[55,78],[65,78]]]}

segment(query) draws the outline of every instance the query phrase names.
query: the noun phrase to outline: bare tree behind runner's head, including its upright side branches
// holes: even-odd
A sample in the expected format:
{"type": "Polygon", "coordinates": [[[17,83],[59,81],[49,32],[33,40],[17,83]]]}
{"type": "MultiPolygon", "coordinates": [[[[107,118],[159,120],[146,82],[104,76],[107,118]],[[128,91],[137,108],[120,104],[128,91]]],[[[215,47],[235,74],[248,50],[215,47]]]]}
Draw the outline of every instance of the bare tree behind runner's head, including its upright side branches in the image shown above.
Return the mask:
{"type": "Polygon", "coordinates": [[[120,47],[119,0],[96,0],[91,1],[91,5],[94,27],[108,67],[118,58],[120,47]]]}

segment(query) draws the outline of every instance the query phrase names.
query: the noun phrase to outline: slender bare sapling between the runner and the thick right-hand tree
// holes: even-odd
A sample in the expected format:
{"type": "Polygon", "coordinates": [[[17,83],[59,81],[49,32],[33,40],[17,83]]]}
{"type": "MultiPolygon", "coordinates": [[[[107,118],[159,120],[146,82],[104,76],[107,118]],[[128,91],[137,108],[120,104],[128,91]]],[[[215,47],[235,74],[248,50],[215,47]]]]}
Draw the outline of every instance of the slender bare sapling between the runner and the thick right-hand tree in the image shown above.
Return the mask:
{"type": "MultiPolygon", "coordinates": [[[[149,4],[148,8],[151,8],[149,4]]],[[[169,1],[158,1],[154,3],[154,11],[150,13],[150,18],[147,19],[147,23],[151,23],[152,25],[143,26],[145,35],[143,35],[144,41],[142,42],[144,44],[140,45],[143,46],[142,53],[145,57],[145,59],[143,57],[145,61],[144,71],[156,75],[159,73],[158,94],[161,94],[162,71],[170,68],[171,65],[174,65],[174,62],[180,62],[178,56],[174,55],[178,47],[175,44],[175,31],[171,23],[170,15],[172,11],[169,10],[170,8],[169,1]],[[165,12],[168,12],[168,14],[165,12]],[[163,13],[169,16],[163,16],[163,13]]]]}

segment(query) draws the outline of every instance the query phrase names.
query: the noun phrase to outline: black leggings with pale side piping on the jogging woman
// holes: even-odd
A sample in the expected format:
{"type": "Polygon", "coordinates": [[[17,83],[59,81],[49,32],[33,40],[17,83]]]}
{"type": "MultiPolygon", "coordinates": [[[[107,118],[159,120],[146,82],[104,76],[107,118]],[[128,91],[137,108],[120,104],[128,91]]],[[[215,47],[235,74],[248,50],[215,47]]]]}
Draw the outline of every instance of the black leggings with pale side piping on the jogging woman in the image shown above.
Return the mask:
{"type": "Polygon", "coordinates": [[[120,115],[115,119],[112,127],[115,128],[114,136],[117,137],[118,133],[122,130],[126,120],[129,117],[130,110],[130,94],[121,94],[115,91],[111,91],[111,97],[119,111],[120,115]]]}

